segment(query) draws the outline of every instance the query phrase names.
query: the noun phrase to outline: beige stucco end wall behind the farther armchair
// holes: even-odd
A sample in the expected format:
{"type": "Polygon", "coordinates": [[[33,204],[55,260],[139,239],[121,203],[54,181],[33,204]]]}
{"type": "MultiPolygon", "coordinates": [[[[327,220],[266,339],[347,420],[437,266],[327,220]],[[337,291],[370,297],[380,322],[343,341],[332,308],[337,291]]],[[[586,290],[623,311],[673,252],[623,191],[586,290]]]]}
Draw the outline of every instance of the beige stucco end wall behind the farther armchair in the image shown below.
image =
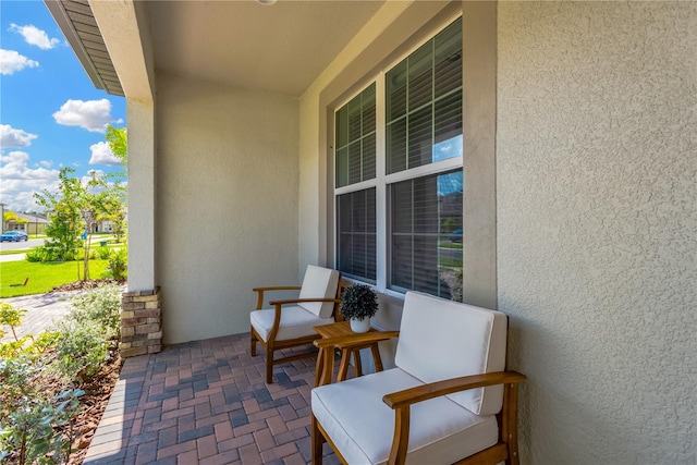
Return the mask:
{"type": "Polygon", "coordinates": [[[297,100],[157,78],[164,342],[248,332],[252,287],[298,283],[297,100]]]}

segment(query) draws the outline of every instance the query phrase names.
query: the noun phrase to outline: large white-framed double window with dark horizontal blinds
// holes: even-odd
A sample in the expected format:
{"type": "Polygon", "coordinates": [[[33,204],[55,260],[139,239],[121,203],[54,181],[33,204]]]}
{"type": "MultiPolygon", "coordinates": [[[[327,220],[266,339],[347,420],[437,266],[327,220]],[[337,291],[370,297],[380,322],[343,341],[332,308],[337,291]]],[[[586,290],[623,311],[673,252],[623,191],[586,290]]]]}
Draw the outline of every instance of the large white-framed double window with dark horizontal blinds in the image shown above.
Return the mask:
{"type": "Polygon", "coordinates": [[[338,269],[462,299],[462,21],[340,107],[334,137],[338,269]]]}

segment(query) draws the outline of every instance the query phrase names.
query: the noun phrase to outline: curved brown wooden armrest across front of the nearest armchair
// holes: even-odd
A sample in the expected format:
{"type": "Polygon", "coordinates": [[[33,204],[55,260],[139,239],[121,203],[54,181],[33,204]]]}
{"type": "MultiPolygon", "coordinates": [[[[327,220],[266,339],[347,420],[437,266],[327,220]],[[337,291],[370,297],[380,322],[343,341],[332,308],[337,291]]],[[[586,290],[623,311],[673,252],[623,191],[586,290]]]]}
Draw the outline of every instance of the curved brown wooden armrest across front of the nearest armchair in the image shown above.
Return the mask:
{"type": "Polygon", "coordinates": [[[429,399],[452,394],[453,392],[484,388],[486,386],[522,382],[525,381],[525,379],[526,376],[521,375],[517,371],[497,371],[484,375],[464,376],[460,378],[429,382],[427,384],[417,386],[416,388],[405,389],[403,391],[386,394],[382,397],[382,402],[384,402],[392,408],[401,408],[407,405],[416,404],[417,402],[428,401],[429,399]]]}

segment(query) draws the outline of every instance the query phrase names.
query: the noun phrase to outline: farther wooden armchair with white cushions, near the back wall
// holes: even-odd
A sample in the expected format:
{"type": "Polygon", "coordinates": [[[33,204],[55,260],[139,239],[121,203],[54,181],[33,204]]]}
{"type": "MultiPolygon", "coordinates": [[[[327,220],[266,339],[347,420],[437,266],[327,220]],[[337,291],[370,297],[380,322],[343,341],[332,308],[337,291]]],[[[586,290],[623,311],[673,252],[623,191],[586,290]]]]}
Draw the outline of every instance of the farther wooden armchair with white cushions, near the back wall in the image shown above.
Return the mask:
{"type": "Polygon", "coordinates": [[[255,287],[257,308],[249,315],[250,352],[257,354],[257,342],[266,348],[266,382],[273,382],[273,365],[315,356],[304,353],[273,358],[273,352],[311,344],[319,338],[313,328],[334,322],[339,308],[341,273],[309,265],[302,286],[255,287]],[[262,309],[264,294],[273,291],[299,290],[298,298],[272,301],[272,308],[262,309]]]}

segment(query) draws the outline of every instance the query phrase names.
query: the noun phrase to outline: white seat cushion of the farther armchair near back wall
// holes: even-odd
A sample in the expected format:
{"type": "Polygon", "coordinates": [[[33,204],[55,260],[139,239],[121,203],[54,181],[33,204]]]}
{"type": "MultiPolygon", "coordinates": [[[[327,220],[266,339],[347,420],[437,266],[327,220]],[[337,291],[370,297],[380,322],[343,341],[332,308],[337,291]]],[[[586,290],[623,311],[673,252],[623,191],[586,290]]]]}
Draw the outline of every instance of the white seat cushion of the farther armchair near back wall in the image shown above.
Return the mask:
{"type": "MultiPolygon", "coordinates": [[[[257,333],[265,340],[269,340],[269,333],[273,327],[273,308],[254,310],[249,314],[249,322],[257,333]]],[[[284,305],[281,310],[281,325],[276,334],[277,341],[302,338],[317,334],[313,328],[320,325],[333,323],[334,318],[319,318],[311,311],[298,305],[284,305]]]]}

